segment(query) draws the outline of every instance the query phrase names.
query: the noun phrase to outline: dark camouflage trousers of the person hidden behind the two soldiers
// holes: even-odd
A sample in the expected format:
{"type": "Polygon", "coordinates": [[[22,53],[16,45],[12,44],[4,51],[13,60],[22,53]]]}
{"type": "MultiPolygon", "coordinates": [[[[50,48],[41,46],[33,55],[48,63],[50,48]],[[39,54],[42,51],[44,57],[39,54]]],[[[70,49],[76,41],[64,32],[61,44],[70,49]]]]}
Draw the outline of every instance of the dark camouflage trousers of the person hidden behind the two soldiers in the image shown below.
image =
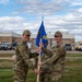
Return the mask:
{"type": "Polygon", "coordinates": [[[50,73],[49,72],[42,72],[39,74],[39,82],[50,82],[50,73]]]}

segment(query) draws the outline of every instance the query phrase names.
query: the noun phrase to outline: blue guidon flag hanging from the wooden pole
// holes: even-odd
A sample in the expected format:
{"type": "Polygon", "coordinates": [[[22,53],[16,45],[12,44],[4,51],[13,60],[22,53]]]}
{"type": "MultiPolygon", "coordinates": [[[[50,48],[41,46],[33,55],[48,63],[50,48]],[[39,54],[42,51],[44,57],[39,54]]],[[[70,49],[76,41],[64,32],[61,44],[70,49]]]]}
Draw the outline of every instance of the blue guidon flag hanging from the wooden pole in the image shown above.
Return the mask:
{"type": "Polygon", "coordinates": [[[36,46],[38,47],[39,47],[40,39],[44,45],[44,48],[46,48],[48,46],[48,39],[47,39],[47,34],[45,32],[44,21],[42,21],[42,24],[37,33],[36,42],[35,42],[36,46]]]}

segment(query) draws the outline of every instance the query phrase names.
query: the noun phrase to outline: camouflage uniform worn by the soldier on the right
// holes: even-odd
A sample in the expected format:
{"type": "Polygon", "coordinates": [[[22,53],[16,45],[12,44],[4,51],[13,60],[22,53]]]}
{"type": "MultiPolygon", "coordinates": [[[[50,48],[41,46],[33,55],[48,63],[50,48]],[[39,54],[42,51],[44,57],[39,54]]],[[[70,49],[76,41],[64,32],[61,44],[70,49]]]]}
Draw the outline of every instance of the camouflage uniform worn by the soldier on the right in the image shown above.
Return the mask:
{"type": "MultiPolygon", "coordinates": [[[[59,34],[58,34],[59,35],[59,34]]],[[[52,82],[60,82],[65,70],[66,48],[62,42],[57,44],[51,50],[43,48],[44,54],[51,56],[42,65],[50,65],[52,82]]],[[[42,66],[43,67],[43,66],[42,66]]]]}

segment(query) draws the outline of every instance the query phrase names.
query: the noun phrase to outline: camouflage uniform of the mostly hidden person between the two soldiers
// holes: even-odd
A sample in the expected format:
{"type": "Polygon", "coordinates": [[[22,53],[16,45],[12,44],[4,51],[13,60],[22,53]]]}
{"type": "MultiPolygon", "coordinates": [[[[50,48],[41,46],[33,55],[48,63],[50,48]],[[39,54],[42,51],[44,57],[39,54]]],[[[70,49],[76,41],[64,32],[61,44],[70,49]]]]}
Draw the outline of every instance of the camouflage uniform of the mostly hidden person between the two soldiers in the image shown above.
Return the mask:
{"type": "MultiPolygon", "coordinates": [[[[46,59],[48,59],[51,56],[47,56],[47,55],[42,55],[42,61],[45,61],[46,59]]],[[[39,82],[50,82],[50,69],[49,69],[50,65],[44,65],[43,67],[40,67],[40,73],[39,73],[39,82]]]]}

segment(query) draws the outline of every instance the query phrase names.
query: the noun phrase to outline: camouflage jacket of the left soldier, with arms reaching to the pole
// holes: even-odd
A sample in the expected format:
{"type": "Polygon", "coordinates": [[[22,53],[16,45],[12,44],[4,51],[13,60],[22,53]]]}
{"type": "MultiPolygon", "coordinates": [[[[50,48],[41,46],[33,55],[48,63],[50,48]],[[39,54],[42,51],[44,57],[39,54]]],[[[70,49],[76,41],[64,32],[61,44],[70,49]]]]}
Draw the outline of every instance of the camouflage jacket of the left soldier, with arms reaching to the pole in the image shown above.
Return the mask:
{"type": "Polygon", "coordinates": [[[19,66],[26,65],[30,68],[33,68],[33,62],[31,61],[31,58],[38,56],[36,52],[31,52],[28,50],[28,46],[26,42],[22,40],[15,48],[16,52],[16,61],[15,63],[19,66]]]}

